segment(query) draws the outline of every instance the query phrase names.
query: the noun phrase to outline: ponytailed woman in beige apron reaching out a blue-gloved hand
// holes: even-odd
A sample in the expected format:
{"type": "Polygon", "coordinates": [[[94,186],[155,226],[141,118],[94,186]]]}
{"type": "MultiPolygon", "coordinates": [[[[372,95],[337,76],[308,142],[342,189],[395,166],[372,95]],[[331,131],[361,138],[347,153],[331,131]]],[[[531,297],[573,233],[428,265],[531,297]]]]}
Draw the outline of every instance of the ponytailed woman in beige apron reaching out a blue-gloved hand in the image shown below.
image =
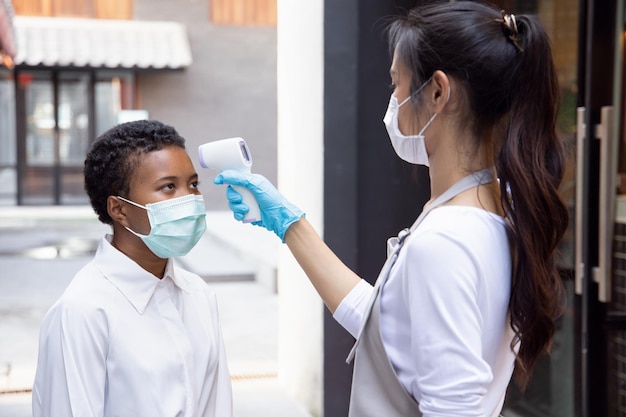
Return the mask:
{"type": "MultiPolygon", "coordinates": [[[[355,275],[265,178],[259,225],[289,247],[357,338],[350,416],[498,416],[524,387],[560,314],[558,194],[565,149],[550,41],[533,16],[473,1],[411,10],[389,26],[397,155],[430,167],[431,199],[390,239],[375,286],[355,275]]],[[[248,208],[231,187],[235,218],[248,208]]]]}

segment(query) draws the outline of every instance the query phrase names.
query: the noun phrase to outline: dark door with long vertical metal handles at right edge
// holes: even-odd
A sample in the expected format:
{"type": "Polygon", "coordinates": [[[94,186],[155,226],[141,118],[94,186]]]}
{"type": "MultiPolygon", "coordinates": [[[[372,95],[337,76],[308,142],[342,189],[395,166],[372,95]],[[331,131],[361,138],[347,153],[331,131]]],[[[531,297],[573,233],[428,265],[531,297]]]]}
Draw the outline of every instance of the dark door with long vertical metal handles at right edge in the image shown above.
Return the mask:
{"type": "Polygon", "coordinates": [[[626,417],[624,2],[588,0],[578,109],[580,413],[626,417]]]}

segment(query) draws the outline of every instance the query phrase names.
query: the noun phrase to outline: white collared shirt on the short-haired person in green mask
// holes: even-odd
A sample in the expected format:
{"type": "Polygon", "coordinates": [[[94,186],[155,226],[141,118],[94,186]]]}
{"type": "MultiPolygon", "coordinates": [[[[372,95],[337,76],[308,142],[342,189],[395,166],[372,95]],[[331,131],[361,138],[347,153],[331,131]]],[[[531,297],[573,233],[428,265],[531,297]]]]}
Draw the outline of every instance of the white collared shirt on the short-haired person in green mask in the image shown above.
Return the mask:
{"type": "Polygon", "coordinates": [[[168,261],[163,279],[100,242],[46,314],[34,417],[231,417],[215,294],[168,261]]]}

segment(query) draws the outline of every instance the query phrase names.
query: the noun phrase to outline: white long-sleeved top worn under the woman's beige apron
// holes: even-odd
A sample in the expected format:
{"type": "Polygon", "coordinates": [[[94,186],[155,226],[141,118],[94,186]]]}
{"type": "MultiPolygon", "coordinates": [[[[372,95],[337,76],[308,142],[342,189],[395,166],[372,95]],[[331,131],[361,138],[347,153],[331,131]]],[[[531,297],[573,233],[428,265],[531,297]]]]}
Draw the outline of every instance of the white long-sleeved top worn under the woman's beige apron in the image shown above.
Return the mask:
{"type": "MultiPolygon", "coordinates": [[[[499,415],[515,360],[510,288],[509,242],[498,216],[438,207],[407,238],[381,290],[380,332],[424,417],[499,415]]],[[[361,280],[334,313],[355,337],[371,294],[361,280]]]]}

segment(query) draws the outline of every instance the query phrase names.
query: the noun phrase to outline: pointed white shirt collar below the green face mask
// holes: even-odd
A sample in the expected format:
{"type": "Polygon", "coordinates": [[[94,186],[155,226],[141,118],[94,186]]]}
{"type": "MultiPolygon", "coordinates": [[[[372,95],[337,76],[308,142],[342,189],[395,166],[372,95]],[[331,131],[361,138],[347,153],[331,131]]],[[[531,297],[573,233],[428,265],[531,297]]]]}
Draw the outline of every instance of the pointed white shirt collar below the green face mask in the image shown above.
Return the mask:
{"type": "MultiPolygon", "coordinates": [[[[160,280],[111,245],[112,238],[112,235],[107,234],[100,241],[93,264],[117,287],[135,310],[143,314],[160,280]]],[[[188,280],[177,272],[180,271],[177,271],[172,259],[168,259],[163,279],[169,277],[178,288],[189,292],[188,280]]]]}

